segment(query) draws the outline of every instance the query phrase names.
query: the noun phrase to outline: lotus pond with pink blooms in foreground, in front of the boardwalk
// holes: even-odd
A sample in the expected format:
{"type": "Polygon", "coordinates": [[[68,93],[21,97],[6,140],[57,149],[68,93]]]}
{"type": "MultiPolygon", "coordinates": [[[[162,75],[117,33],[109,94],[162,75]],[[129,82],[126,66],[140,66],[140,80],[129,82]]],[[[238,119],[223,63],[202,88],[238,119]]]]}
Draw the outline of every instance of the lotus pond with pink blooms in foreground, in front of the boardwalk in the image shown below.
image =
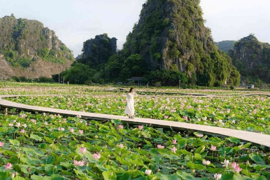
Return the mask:
{"type": "Polygon", "coordinates": [[[269,151],[233,137],[14,109],[0,123],[3,180],[270,179],[269,151]]]}

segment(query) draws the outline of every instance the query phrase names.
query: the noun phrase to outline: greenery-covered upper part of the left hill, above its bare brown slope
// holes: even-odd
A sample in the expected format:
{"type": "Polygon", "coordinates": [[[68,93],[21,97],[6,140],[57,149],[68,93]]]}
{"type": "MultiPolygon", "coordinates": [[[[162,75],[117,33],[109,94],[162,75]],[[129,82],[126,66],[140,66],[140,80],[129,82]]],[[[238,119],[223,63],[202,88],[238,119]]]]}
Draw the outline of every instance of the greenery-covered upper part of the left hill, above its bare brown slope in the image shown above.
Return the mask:
{"type": "Polygon", "coordinates": [[[16,19],[12,14],[0,18],[0,29],[0,54],[11,67],[27,68],[38,58],[60,66],[74,61],[55,32],[37,20],[16,19]]]}

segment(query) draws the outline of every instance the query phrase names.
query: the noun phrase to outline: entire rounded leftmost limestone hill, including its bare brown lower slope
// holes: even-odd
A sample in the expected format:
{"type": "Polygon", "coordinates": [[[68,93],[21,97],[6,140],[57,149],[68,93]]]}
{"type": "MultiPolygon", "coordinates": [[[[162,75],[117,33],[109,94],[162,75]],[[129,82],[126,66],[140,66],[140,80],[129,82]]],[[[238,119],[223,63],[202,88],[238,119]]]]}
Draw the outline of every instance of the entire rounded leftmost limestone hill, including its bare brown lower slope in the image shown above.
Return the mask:
{"type": "Polygon", "coordinates": [[[71,51],[54,31],[39,21],[16,19],[13,15],[0,18],[0,58],[8,67],[0,73],[2,79],[49,77],[74,61],[71,51]]]}

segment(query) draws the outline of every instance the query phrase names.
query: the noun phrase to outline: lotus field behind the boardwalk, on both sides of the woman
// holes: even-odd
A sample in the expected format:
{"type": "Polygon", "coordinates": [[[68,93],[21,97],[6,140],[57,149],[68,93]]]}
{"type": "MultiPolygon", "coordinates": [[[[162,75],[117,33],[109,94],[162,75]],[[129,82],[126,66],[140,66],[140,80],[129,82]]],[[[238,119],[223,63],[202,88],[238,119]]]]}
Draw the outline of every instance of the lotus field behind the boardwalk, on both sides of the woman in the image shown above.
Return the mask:
{"type": "MultiPolygon", "coordinates": [[[[22,96],[22,104],[125,116],[125,93],[101,96],[22,96]]],[[[189,122],[270,134],[270,97],[138,97],[137,117],[189,122]]]]}

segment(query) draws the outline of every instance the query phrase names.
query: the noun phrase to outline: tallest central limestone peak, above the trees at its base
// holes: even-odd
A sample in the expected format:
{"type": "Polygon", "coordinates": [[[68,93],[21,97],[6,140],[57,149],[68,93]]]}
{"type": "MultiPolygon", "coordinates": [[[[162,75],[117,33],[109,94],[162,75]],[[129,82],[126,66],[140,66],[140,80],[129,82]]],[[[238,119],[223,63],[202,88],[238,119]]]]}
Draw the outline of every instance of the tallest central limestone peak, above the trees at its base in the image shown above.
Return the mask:
{"type": "Polygon", "coordinates": [[[196,73],[202,84],[226,84],[233,70],[231,60],[217,52],[199,2],[148,0],[123,51],[140,54],[151,70],[176,68],[188,76],[196,73]],[[215,69],[217,64],[220,69],[215,69]]]}

